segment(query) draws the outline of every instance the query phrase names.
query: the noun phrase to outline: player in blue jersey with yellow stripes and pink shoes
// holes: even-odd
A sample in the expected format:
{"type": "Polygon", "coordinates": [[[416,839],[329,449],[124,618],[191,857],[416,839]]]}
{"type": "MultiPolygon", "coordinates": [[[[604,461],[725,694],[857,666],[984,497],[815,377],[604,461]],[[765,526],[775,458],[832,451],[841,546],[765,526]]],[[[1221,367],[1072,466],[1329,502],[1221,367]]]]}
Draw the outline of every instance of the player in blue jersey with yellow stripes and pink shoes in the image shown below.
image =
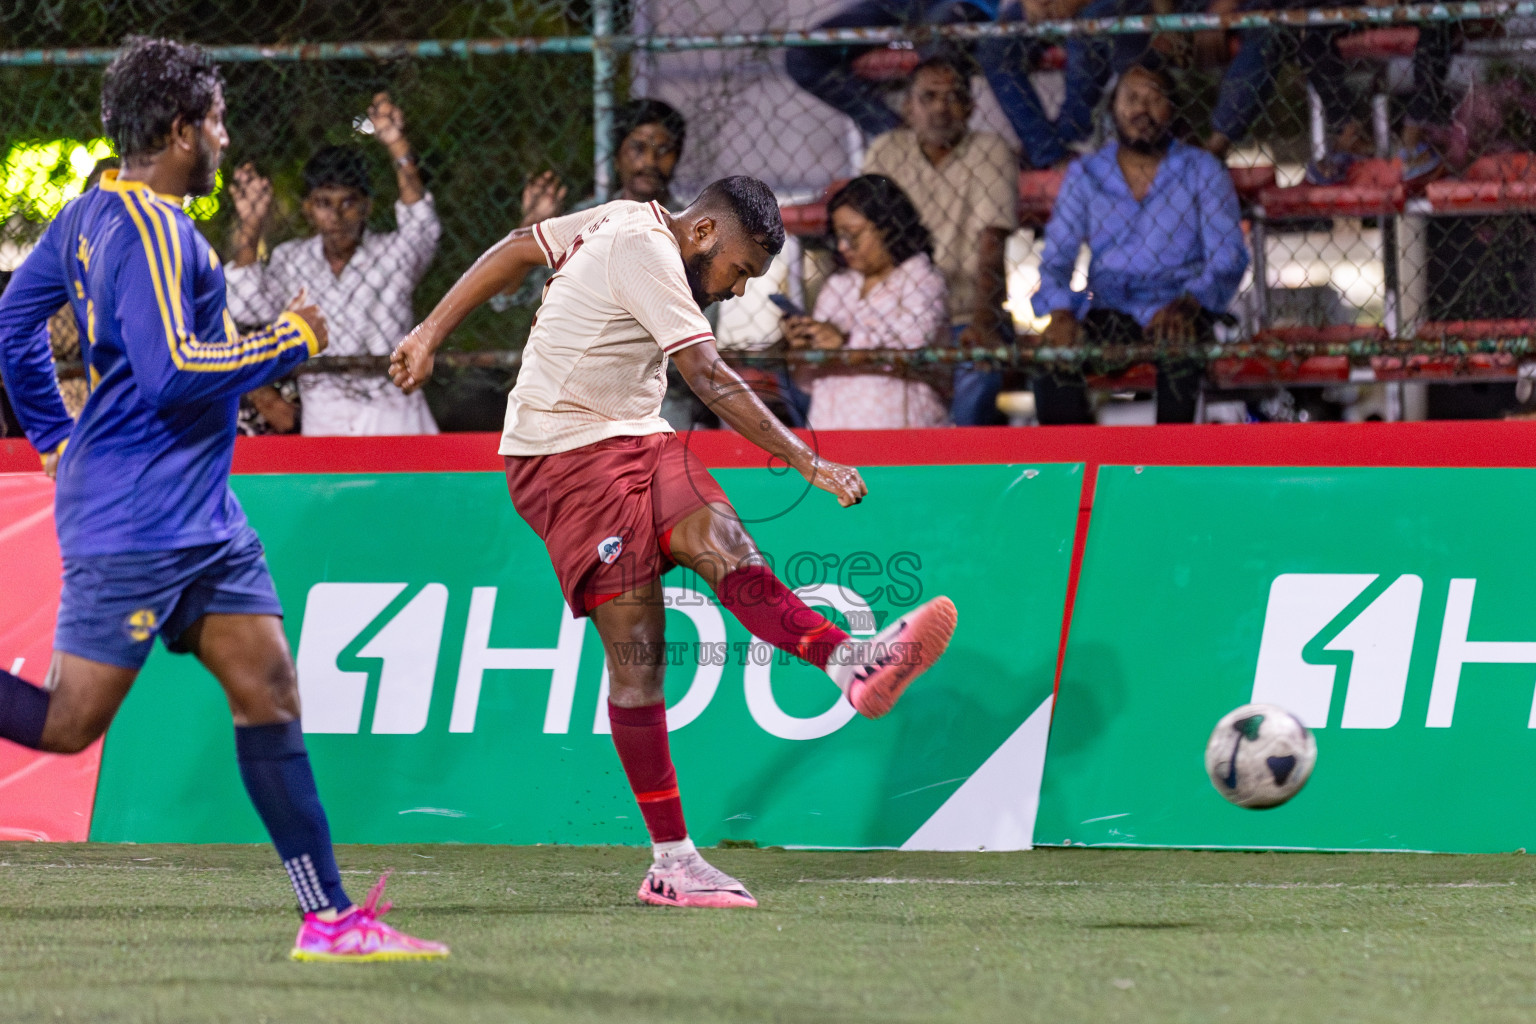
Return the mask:
{"type": "MultiPolygon", "coordinates": [[[[298,960],[418,960],[447,947],[384,924],[341,887],[300,726],[298,676],[261,542],[229,490],[240,396],[326,347],[303,298],[241,335],[218,256],[183,212],[214,190],[229,135],[218,68],[194,46],[131,38],[101,121],[121,170],[69,203],[0,296],[0,375],[55,474],[65,585],[38,688],[0,672],[0,737],[71,754],[117,714],[158,636],[218,679],[240,775],[304,921],[298,960]],[[80,325],[91,396],[71,422],[46,324],[80,325]]],[[[18,600],[20,594],[3,599],[18,600]]]]}

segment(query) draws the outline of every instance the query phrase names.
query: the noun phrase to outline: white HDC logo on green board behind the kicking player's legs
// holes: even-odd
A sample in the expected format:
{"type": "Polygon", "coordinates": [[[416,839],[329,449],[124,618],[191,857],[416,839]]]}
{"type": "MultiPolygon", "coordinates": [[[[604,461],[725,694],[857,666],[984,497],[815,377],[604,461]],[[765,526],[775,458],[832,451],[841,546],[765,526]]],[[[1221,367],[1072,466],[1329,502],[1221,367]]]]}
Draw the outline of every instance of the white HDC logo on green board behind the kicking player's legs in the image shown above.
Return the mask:
{"type": "MultiPolygon", "coordinates": [[[[413,734],[427,728],[438,656],[442,648],[449,588],[442,583],[427,583],[399,605],[407,586],[407,583],[315,583],[310,588],[295,659],[306,732],[413,734]],[[370,633],[367,642],[358,646],[356,642],[370,633]],[[352,659],[378,659],[381,663],[373,717],[366,729],[362,712],[367,705],[370,672],[361,666],[343,668],[339,662],[349,651],[352,659]]],[[[876,616],[869,603],[851,590],[817,583],[800,586],[796,593],[808,605],[840,611],[852,636],[874,636],[876,616]]],[[[587,623],[571,616],[562,602],[554,646],[492,646],[496,596],[495,586],[476,586],[470,594],[449,732],[475,731],[484,677],[495,669],[547,672],[544,732],[570,732],[587,623]]],[[[665,588],[665,596],[668,606],[693,622],[699,634],[699,648],[720,652],[727,649],[725,617],[714,602],[682,586],[665,588]]],[[[831,706],[825,712],[811,717],[785,712],[773,694],[773,649],[762,640],[740,646],[746,709],[765,732],[783,740],[814,740],[836,732],[854,717],[856,712],[846,700],[833,700],[837,691],[829,683],[831,706]]],[[[700,659],[693,672],[688,691],[667,709],[667,728],[671,731],[691,723],[710,706],[725,674],[725,657],[700,659]]],[[[607,666],[602,669],[591,731],[608,732],[607,666]]]]}

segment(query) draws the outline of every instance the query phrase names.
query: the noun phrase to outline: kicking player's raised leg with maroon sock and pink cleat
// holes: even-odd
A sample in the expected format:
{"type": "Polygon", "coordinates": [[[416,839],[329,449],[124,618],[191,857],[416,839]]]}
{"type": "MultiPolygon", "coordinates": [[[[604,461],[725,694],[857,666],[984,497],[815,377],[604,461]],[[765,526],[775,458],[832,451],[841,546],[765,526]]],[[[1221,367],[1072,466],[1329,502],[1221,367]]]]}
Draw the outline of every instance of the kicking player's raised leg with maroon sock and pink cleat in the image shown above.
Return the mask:
{"type": "Polygon", "coordinates": [[[754,637],[825,671],[866,718],[889,712],[912,680],[932,668],[955,631],[954,602],[934,597],[872,639],[851,639],[773,574],[730,505],[699,508],[662,543],[754,637]]]}

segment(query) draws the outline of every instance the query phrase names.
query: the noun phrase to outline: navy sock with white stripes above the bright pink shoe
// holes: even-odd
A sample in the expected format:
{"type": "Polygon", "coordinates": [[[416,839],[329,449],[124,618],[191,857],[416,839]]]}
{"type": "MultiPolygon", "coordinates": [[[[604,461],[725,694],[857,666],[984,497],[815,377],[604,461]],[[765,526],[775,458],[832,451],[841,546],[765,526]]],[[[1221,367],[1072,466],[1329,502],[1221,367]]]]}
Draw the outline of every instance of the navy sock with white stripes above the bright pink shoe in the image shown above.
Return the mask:
{"type": "Polygon", "coordinates": [[[240,778],[278,847],[300,909],[352,906],[330,849],[330,826],[309,768],[303,726],[298,722],[235,726],[235,755],[240,778]]]}

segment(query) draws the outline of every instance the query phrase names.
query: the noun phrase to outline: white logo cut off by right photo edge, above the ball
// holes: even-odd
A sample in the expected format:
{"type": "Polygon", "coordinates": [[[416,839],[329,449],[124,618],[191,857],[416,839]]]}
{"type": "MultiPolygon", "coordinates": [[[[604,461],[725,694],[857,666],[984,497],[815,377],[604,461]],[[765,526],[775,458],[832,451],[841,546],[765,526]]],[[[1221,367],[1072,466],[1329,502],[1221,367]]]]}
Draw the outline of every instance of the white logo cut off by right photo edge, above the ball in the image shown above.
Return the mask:
{"type": "MultiPolygon", "coordinates": [[[[1253,700],[1289,708],[1307,728],[1326,726],[1339,669],[1307,662],[1304,649],[1378,579],[1372,573],[1276,576],[1264,611],[1253,700]]],[[[1536,642],[1467,639],[1476,588],[1475,579],[1450,582],[1424,720],[1427,728],[1450,726],[1462,665],[1536,665],[1536,642]]],[[[1398,725],[1422,596],[1422,579],[1399,576],[1324,645],[1324,651],[1352,654],[1342,728],[1390,729],[1398,725]]],[[[1536,697],[1530,728],[1536,729],[1536,697]]]]}

